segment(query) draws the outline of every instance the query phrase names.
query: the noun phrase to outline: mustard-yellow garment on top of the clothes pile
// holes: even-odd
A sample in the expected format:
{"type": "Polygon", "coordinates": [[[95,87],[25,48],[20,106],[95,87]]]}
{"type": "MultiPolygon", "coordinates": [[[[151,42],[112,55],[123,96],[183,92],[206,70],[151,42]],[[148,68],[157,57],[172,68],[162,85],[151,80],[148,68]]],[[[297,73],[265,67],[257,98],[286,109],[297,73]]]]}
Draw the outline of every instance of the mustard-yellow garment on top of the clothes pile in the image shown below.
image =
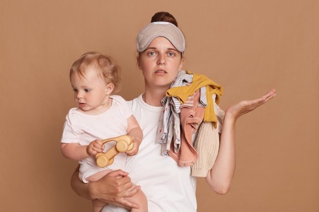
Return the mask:
{"type": "MultiPolygon", "coordinates": [[[[187,74],[193,74],[189,70],[187,74]]],[[[214,128],[217,127],[217,117],[214,111],[214,102],[212,95],[216,94],[216,103],[220,101],[220,96],[223,95],[223,87],[216,82],[210,80],[205,75],[193,74],[193,82],[189,86],[173,87],[166,91],[166,96],[176,97],[178,101],[183,104],[189,96],[193,95],[196,90],[206,86],[207,107],[204,113],[204,122],[212,122],[214,128]]]]}

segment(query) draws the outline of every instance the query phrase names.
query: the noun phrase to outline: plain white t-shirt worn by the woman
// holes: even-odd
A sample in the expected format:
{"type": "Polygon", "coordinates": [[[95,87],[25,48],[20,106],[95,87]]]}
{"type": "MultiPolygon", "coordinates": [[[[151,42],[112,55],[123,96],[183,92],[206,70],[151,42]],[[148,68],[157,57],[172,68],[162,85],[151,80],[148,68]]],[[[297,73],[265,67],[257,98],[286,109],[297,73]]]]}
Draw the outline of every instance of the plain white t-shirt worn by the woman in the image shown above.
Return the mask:
{"type": "MultiPolygon", "coordinates": [[[[161,155],[161,144],[155,143],[159,117],[163,107],[146,104],[142,95],[129,101],[144,134],[139,152],[127,157],[125,170],[131,180],[140,185],[148,200],[150,212],[195,212],[196,177],[191,176],[190,167],[180,167],[169,156],[161,155]]],[[[102,212],[124,212],[108,204],[102,212]]]]}

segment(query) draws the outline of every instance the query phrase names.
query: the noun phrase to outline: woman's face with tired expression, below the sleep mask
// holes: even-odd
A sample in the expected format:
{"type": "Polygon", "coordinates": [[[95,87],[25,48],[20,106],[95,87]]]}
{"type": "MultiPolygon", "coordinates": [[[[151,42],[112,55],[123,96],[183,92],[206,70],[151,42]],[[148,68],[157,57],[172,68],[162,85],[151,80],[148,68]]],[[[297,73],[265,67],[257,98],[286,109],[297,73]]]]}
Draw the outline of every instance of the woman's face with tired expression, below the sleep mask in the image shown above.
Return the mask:
{"type": "Polygon", "coordinates": [[[182,65],[181,53],[164,37],[154,38],[138,57],[138,66],[145,78],[145,88],[165,86],[168,89],[182,65]]]}

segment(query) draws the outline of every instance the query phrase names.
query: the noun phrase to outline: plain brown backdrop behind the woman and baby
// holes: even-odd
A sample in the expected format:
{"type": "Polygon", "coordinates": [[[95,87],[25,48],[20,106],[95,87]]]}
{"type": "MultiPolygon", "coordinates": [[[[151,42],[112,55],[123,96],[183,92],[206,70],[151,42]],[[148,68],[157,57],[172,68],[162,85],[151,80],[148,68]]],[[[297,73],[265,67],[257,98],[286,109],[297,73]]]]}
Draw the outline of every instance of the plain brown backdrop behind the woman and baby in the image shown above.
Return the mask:
{"type": "Polygon", "coordinates": [[[77,163],[60,152],[68,71],[84,52],[109,53],[120,95],[142,93],[135,38],[157,11],[185,34],[184,69],[223,85],[223,109],[277,89],[237,122],[230,192],[198,180],[198,211],[319,211],[317,0],[0,0],[0,210],[91,210],[69,185],[77,163]]]}

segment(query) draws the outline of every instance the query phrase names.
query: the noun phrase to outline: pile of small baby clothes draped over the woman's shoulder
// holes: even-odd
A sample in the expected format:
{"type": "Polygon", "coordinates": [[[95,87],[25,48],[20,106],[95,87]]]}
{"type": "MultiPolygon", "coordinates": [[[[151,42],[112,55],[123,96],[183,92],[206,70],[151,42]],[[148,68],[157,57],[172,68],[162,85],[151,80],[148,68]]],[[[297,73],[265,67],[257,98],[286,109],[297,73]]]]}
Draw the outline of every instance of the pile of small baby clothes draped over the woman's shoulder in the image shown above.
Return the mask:
{"type": "Polygon", "coordinates": [[[162,100],[156,142],[163,156],[191,166],[192,176],[205,177],[217,158],[225,114],[218,106],[221,95],[221,85],[187,70],[178,73],[162,100]]]}

